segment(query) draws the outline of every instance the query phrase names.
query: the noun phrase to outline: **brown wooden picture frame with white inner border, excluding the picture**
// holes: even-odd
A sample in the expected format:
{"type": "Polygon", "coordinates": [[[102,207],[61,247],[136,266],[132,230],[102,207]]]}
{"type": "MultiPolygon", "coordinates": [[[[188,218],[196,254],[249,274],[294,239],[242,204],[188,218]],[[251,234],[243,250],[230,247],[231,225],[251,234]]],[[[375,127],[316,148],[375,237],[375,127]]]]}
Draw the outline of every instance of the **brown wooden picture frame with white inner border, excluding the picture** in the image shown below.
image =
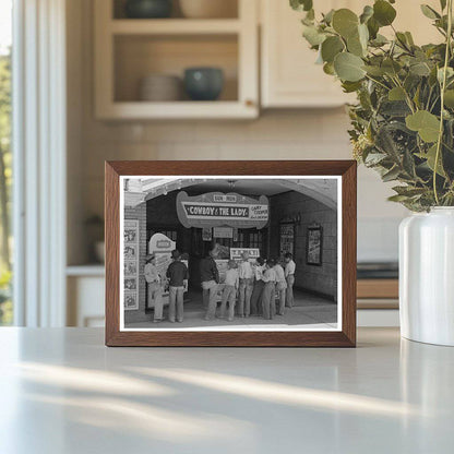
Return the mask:
{"type": "MultiPolygon", "coordinates": [[[[212,162],[106,162],[106,345],[107,346],[203,346],[203,347],[355,347],[356,346],[356,201],[357,164],[354,160],[212,160],[212,162]],[[120,313],[124,313],[120,291],[120,258],[122,246],[120,220],[123,208],[121,198],[124,178],[181,178],[206,176],[217,181],[222,177],[263,178],[270,176],[287,181],[300,178],[336,178],[339,239],[337,244],[338,274],[337,307],[340,308],[335,330],[294,331],[146,331],[122,328],[120,313]],[[278,176],[278,177],[276,177],[278,176]],[[287,178],[286,178],[287,177],[287,178]],[[121,210],[121,212],[120,212],[121,210]]],[[[204,180],[203,180],[204,181],[204,180]]],[[[267,181],[267,180],[266,180],[267,181]]],[[[166,192],[167,193],[167,192],[166,192]]],[[[272,216],[272,215],[271,215],[272,216]]],[[[146,224],[146,220],[145,220],[146,224]]],[[[278,223],[277,223],[278,225],[278,223]]],[[[299,227],[298,227],[299,228],[299,227]]],[[[303,259],[302,259],[303,260],[303,259]]],[[[297,261],[298,266],[302,266],[297,261]]],[[[123,316],[123,315],[121,315],[123,316]]]]}

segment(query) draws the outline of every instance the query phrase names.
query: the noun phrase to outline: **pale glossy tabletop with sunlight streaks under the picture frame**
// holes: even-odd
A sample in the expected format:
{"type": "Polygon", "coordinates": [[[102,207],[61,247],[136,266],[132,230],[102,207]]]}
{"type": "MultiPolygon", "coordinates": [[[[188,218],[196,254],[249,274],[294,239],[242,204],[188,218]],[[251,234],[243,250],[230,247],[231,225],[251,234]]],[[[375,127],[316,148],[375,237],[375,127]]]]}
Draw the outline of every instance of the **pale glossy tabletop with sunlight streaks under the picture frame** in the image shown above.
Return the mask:
{"type": "Polygon", "coordinates": [[[454,348],[106,348],[0,328],[0,453],[450,453],[454,348]]]}

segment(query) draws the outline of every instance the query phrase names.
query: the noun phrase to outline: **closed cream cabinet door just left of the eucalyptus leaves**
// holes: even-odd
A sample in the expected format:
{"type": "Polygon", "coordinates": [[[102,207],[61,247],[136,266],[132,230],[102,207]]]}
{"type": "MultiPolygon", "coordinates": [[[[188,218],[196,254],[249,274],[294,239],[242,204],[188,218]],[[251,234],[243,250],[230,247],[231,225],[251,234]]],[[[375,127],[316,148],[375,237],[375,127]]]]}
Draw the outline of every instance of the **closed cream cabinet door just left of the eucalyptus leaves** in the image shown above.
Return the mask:
{"type": "MultiPolygon", "coordinates": [[[[346,1],[319,0],[316,12],[345,7],[346,1]]],[[[348,4],[347,8],[350,5],[348,4]]],[[[262,0],[262,106],[333,107],[347,101],[333,76],[315,64],[316,52],[301,36],[303,13],[286,0],[262,0]]]]}

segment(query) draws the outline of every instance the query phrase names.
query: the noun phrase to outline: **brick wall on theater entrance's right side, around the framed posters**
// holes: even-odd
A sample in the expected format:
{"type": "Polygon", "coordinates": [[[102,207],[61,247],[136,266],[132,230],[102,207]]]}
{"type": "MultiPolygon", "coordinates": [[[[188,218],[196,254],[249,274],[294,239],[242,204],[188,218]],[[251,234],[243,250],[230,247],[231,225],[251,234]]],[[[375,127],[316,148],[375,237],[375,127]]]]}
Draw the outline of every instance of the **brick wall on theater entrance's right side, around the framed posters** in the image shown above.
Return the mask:
{"type": "Polygon", "coordinates": [[[297,213],[301,224],[295,235],[295,286],[337,299],[337,213],[322,203],[298,192],[286,192],[271,198],[271,253],[279,253],[279,220],[297,213]],[[308,227],[323,229],[322,266],[306,263],[308,227]]]}

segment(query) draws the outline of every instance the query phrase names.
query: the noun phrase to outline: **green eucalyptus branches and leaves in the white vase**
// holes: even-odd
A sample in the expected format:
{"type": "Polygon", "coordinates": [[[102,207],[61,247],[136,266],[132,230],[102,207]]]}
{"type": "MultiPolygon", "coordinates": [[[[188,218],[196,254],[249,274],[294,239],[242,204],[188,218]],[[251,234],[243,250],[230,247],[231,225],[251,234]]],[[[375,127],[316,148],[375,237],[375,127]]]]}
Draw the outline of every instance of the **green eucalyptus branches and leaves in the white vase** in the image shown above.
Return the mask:
{"type": "Polygon", "coordinates": [[[375,0],[360,14],[343,8],[318,20],[312,0],[290,0],[306,12],[302,35],[319,52],[323,71],[357,95],[348,106],[354,156],[383,181],[398,182],[390,200],[415,212],[452,206],[453,0],[440,0],[438,9],[420,7],[441,35],[440,44],[422,46],[394,27],[393,3],[375,0]],[[392,38],[380,33],[384,27],[392,38]]]}

